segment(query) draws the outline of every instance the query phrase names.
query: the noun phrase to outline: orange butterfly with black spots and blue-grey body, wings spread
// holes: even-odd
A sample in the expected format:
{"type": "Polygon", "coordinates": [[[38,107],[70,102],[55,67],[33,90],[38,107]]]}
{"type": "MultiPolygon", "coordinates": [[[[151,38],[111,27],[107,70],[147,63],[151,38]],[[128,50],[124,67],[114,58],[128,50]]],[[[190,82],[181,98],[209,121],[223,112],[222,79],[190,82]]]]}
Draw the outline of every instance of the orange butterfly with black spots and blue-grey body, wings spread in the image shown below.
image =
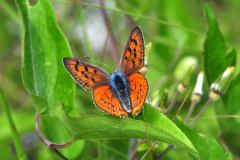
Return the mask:
{"type": "Polygon", "coordinates": [[[116,117],[137,116],[148,94],[148,82],[139,72],[144,67],[144,40],[139,27],[128,39],[119,67],[109,75],[103,69],[75,58],[63,58],[73,79],[85,90],[93,91],[95,105],[116,117]]]}

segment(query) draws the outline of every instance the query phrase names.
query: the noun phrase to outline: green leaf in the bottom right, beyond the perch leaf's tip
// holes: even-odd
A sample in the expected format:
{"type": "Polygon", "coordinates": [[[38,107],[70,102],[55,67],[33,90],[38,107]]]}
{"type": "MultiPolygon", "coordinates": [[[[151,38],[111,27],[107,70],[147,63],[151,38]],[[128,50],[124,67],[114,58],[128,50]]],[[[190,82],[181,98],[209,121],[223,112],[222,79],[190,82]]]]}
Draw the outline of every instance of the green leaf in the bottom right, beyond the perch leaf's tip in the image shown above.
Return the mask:
{"type": "Polygon", "coordinates": [[[225,152],[223,147],[214,138],[197,134],[179,121],[176,124],[191,140],[201,160],[230,160],[231,154],[225,152]]]}

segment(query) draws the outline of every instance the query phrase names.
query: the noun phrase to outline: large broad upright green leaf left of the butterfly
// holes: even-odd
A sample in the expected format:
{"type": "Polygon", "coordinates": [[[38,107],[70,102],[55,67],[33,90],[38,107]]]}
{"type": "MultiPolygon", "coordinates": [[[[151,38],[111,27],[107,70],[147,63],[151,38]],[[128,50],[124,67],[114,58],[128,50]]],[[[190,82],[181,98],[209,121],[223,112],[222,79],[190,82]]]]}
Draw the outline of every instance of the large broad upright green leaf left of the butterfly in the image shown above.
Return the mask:
{"type": "Polygon", "coordinates": [[[16,0],[23,20],[22,78],[39,112],[55,113],[60,105],[69,112],[75,85],[62,64],[72,53],[58,27],[49,0],[30,6],[16,0]]]}

